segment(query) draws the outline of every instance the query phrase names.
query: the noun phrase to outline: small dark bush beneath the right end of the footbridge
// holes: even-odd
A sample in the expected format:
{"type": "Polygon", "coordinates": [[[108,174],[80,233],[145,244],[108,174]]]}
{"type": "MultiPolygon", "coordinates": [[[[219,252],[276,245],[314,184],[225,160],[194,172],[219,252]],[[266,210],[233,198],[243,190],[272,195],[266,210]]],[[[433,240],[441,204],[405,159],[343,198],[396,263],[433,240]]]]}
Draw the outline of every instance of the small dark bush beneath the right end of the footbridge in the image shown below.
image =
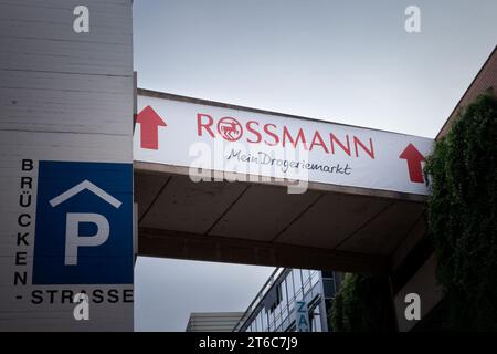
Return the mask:
{"type": "Polygon", "coordinates": [[[330,326],[335,332],[392,331],[388,278],[346,274],[331,304],[330,326]]]}

